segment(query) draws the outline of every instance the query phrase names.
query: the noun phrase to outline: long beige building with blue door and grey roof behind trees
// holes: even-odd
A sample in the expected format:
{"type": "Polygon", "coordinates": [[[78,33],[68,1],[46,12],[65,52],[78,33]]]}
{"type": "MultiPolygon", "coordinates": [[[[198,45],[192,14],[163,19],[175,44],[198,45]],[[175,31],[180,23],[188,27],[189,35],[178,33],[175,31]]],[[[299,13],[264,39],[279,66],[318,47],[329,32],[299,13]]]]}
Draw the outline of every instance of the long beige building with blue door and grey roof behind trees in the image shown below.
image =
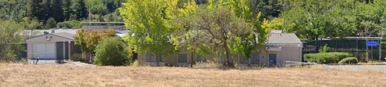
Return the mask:
{"type": "MultiPolygon", "coordinates": [[[[267,65],[281,66],[284,61],[301,62],[303,44],[299,38],[293,33],[271,33],[264,47],[260,47],[259,52],[252,52],[251,58],[245,60],[244,56],[233,55],[234,60],[239,65],[246,65],[248,62],[252,65],[267,65]]],[[[160,65],[177,65],[187,66],[192,65],[197,61],[215,61],[218,58],[224,58],[222,54],[205,55],[204,58],[192,53],[186,49],[181,49],[181,52],[171,56],[162,56],[158,60],[160,65]]],[[[151,53],[138,54],[139,65],[156,66],[156,56],[151,53]]]]}

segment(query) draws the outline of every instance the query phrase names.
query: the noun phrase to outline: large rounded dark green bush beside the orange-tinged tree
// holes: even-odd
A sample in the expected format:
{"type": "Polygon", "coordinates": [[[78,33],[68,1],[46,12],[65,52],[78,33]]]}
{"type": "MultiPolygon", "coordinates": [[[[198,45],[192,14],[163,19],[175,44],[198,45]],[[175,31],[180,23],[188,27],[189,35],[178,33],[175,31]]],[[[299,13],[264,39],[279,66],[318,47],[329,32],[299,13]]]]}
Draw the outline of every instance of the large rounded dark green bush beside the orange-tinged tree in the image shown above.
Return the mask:
{"type": "Polygon", "coordinates": [[[103,38],[103,41],[97,45],[95,52],[95,65],[125,66],[131,63],[129,51],[119,37],[103,38]]]}

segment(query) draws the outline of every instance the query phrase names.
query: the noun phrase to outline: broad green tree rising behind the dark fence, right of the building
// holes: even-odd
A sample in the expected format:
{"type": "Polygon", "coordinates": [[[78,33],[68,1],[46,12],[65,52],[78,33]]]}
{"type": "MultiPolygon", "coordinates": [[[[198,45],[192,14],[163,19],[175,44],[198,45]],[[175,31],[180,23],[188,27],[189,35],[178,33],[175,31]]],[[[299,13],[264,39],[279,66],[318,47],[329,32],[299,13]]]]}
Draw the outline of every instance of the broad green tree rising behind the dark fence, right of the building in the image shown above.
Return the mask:
{"type": "MultiPolygon", "coordinates": [[[[342,0],[295,0],[289,4],[289,10],[282,12],[281,17],[288,22],[295,23],[295,27],[288,29],[295,32],[300,38],[309,40],[318,39],[319,37],[336,37],[345,36],[350,33],[340,33],[337,29],[342,12],[349,10],[342,7],[349,1],[342,0]]],[[[285,25],[287,26],[287,25],[285,25]]]]}

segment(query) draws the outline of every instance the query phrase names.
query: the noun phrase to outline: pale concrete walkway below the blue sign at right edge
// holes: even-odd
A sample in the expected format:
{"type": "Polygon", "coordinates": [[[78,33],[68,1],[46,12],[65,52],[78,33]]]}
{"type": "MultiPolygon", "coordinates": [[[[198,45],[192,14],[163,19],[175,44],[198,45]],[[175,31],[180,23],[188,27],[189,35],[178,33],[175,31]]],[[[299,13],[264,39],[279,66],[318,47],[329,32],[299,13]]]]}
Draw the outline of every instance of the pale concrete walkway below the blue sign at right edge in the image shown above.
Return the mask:
{"type": "Polygon", "coordinates": [[[339,69],[349,71],[376,71],[386,73],[386,65],[323,65],[324,69],[339,69]]]}

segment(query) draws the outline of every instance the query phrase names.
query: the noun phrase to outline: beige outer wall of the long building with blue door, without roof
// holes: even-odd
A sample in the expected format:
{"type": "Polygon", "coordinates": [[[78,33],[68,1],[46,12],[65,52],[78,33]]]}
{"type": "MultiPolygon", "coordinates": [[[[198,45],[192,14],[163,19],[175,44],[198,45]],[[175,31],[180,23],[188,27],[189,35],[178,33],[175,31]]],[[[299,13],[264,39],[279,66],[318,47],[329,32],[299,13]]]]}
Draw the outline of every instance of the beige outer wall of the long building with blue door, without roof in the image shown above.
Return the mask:
{"type": "MultiPolygon", "coordinates": [[[[258,65],[269,65],[269,54],[276,54],[276,64],[281,66],[284,64],[284,61],[299,61],[301,62],[301,52],[302,52],[302,44],[270,44],[266,45],[265,47],[258,48],[260,51],[256,52],[256,57],[258,58],[258,65]],[[266,47],[280,47],[281,51],[267,51],[266,47]],[[265,56],[264,59],[262,59],[262,56],[265,56]]],[[[187,63],[178,63],[178,54],[176,55],[170,55],[165,56],[164,63],[162,64],[168,64],[168,65],[191,65],[193,62],[197,61],[197,54],[192,53],[188,50],[182,50],[180,53],[186,53],[187,56],[187,63]],[[193,59],[193,60],[192,60],[193,59]]],[[[232,55],[234,60],[238,63],[240,56],[242,55],[232,55]]],[[[217,61],[219,60],[219,57],[225,57],[225,55],[219,55],[219,54],[210,54],[205,55],[206,61],[217,61]]],[[[155,59],[156,60],[156,59],[155,59]]],[[[139,65],[156,65],[155,62],[146,62],[146,55],[145,53],[138,54],[138,61],[139,65]]],[[[160,63],[161,64],[161,63],[160,63]]]]}

